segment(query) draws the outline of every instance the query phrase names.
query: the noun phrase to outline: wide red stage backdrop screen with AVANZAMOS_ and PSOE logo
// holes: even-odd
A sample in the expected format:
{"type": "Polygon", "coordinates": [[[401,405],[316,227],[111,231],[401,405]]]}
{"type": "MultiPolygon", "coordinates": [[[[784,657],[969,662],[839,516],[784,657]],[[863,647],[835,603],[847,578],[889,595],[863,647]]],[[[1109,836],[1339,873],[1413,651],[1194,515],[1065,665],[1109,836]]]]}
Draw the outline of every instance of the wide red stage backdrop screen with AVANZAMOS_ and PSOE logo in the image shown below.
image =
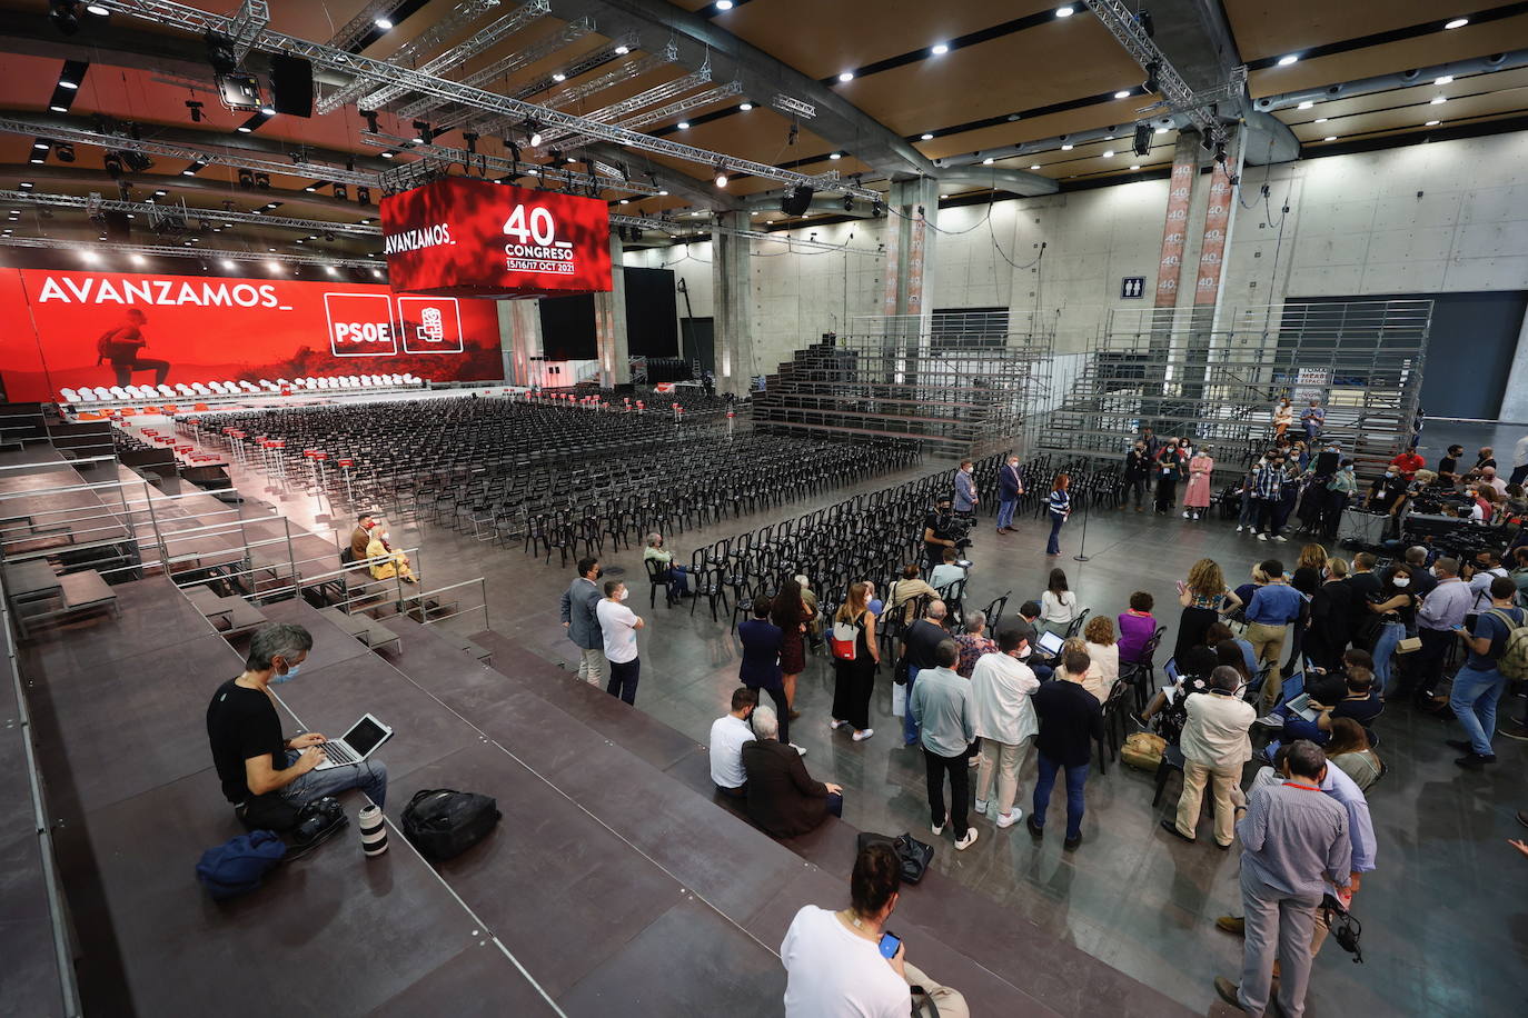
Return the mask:
{"type": "Polygon", "coordinates": [[[504,374],[492,301],[385,285],[0,269],[11,400],[113,385],[504,374]]]}

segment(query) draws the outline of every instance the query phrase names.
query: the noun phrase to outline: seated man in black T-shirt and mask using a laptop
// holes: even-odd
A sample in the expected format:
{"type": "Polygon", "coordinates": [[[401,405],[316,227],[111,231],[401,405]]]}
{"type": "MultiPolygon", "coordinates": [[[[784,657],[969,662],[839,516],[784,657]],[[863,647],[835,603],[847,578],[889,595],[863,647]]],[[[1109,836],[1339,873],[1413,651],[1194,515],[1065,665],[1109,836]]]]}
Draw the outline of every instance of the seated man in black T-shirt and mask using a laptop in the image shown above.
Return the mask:
{"type": "Polygon", "coordinates": [[[274,623],[249,641],[244,672],[217,687],[206,708],[206,734],[223,795],[251,829],[324,795],[359,788],[379,807],[387,798],[387,768],[373,751],[391,730],[370,714],[338,745],[316,731],[281,736],[270,691],[296,678],[313,636],[292,623],[274,623]]]}

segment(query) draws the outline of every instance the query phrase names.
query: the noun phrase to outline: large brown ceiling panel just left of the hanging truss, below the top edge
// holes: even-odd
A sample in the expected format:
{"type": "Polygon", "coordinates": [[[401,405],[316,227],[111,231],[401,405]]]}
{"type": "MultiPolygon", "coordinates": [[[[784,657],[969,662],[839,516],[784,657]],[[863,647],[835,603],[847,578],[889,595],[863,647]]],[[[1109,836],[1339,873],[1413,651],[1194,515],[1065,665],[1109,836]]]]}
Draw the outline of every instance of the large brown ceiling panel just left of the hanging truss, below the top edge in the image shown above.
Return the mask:
{"type": "MultiPolygon", "coordinates": [[[[750,5],[752,6],[752,5],[750,5]]],[[[1062,18],[1027,32],[860,78],[837,92],[898,134],[918,134],[1015,110],[1138,87],[1141,69],[1096,18],[1062,18]]],[[[1134,110],[1141,96],[1126,101],[1134,110]]],[[[1112,113],[1094,107],[1106,124],[1112,113]]]]}

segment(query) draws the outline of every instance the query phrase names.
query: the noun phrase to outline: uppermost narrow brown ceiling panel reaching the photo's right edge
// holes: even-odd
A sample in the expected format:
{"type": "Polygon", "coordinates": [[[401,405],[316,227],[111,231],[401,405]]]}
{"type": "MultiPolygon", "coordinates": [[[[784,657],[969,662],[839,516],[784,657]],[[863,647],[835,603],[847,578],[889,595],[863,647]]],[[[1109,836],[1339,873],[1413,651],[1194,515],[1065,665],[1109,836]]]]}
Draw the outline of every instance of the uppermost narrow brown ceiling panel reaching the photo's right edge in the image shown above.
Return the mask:
{"type": "MultiPolygon", "coordinates": [[[[1332,5],[1337,6],[1337,5],[1332,5]]],[[[1485,56],[1528,46],[1528,14],[1490,24],[1467,24],[1453,32],[1369,46],[1351,53],[1302,60],[1290,67],[1254,70],[1247,82],[1253,98],[1322,89],[1340,81],[1389,75],[1409,67],[1432,67],[1452,60],[1485,56]]]]}

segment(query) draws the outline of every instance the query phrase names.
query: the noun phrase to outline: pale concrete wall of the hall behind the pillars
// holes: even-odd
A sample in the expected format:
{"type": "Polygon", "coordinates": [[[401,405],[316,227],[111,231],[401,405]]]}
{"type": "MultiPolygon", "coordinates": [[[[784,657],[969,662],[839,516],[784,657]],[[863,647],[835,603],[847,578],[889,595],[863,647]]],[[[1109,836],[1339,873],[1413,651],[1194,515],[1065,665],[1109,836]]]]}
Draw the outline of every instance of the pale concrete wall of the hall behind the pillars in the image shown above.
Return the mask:
{"type": "MultiPolygon", "coordinates": [[[[1201,177],[1187,230],[1189,292],[1207,191],[1201,177]]],[[[1109,308],[1149,307],[1166,192],[1166,180],[1141,180],[999,201],[990,212],[943,209],[934,307],[1038,311],[1057,322],[1057,353],[1085,350],[1109,308]],[[1045,256],[1034,264],[1041,243],[1045,256]],[[1120,279],[1135,275],[1146,276],[1148,299],[1122,301],[1120,279]]],[[[1248,166],[1239,200],[1225,264],[1230,307],[1285,296],[1528,288],[1528,133],[1248,166]]],[[[885,227],[885,220],[860,220],[793,235],[874,250],[885,227]]],[[[787,252],[776,241],[753,250],[753,374],[879,311],[883,258],[787,252]]],[[[685,247],[631,252],[626,264],[681,273],[695,314],[709,314],[709,244],[692,244],[688,256],[685,247]]],[[[1528,353],[1519,353],[1523,377],[1508,386],[1508,404],[1514,391],[1528,391],[1528,353]]]]}

